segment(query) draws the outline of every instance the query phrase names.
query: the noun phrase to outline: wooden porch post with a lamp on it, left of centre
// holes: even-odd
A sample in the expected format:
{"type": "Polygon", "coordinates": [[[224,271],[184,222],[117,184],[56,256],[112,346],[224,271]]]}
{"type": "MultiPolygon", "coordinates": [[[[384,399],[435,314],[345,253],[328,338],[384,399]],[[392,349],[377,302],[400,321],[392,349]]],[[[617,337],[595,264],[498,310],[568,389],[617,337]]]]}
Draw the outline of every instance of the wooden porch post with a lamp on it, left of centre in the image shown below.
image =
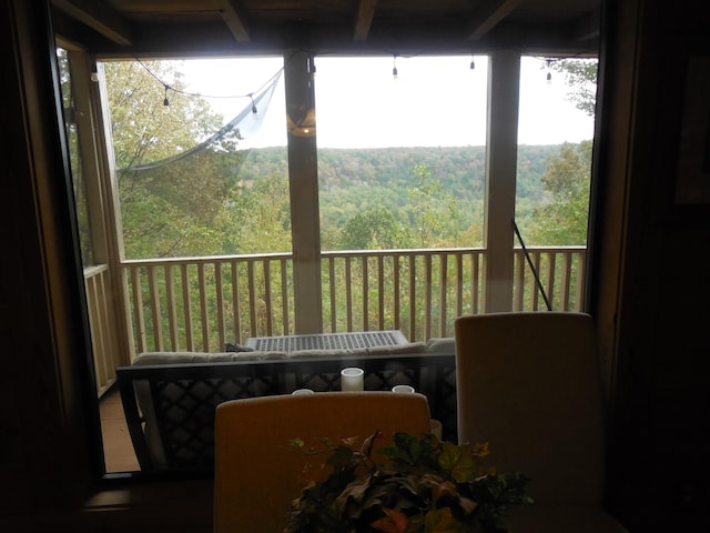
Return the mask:
{"type": "Polygon", "coordinates": [[[286,59],[284,66],[297,334],[323,331],[316,140],[314,129],[303,127],[306,120],[314,118],[315,111],[311,61],[305,52],[295,52],[286,59]]]}

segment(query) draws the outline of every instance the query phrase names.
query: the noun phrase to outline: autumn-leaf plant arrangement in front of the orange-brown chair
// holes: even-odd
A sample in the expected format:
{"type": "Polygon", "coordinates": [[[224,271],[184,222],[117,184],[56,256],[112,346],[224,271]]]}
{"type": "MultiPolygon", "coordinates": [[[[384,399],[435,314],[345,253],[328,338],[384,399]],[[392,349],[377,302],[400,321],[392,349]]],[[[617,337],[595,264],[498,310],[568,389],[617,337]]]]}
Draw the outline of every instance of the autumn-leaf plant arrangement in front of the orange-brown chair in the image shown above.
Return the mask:
{"type": "Polygon", "coordinates": [[[311,481],[293,502],[286,533],[506,532],[510,505],[529,502],[521,473],[484,465],[487,444],[453,444],[432,434],[395,433],[393,444],[373,450],[379,432],[355,449],[323,440],[304,453],[327,453],[329,474],[311,481]]]}

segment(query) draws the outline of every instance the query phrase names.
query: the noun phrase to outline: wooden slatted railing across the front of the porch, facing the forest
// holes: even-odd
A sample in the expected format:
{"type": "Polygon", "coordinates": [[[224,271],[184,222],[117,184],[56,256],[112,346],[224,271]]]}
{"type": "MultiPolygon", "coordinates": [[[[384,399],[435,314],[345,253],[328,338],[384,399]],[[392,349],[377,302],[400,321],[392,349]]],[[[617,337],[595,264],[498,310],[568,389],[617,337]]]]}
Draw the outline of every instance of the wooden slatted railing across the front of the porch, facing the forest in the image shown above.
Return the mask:
{"type": "MultiPolygon", "coordinates": [[[[555,310],[582,309],[584,247],[529,247],[555,310]]],[[[521,250],[514,253],[517,311],[544,310],[521,250]]],[[[483,249],[323,252],[326,332],[402,330],[412,340],[453,335],[483,312],[483,249]]],[[[220,351],[247,336],[294,333],[288,253],[125,261],[135,353],[220,351]]]]}

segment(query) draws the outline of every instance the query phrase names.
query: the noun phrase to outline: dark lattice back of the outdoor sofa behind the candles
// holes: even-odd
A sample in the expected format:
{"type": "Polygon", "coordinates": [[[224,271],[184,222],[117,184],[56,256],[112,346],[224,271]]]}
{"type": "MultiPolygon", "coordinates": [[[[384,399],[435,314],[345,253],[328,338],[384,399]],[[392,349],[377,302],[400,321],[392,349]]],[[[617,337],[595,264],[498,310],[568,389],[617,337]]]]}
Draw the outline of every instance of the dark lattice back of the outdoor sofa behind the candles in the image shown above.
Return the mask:
{"type": "MultiPolygon", "coordinates": [[[[136,456],[144,472],[210,473],[214,469],[214,416],[227,400],[288,394],[295,389],[339,391],[341,370],[365,370],[365,390],[408,384],[426,395],[443,436],[456,441],[456,362],[453,354],[239,361],[118,370],[119,388],[136,456]],[[153,424],[166,465],[149,452],[148,416],[136,402],[138,386],[150,386],[153,424]]],[[[153,442],[153,441],[151,441],[153,442]]],[[[154,455],[154,453],[153,453],[154,455]]]]}

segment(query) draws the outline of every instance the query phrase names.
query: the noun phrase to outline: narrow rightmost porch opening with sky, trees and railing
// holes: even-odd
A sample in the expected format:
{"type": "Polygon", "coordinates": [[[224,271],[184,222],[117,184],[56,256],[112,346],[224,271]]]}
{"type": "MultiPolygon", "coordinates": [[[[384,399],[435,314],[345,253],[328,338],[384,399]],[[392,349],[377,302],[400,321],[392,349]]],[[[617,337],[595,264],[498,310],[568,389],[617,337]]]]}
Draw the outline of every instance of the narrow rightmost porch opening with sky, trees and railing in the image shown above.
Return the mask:
{"type": "MultiPolygon", "coordinates": [[[[596,79],[596,58],[520,60],[516,223],[555,310],[582,304],[596,79]]],[[[517,309],[547,309],[531,281],[515,292],[517,309]]]]}

